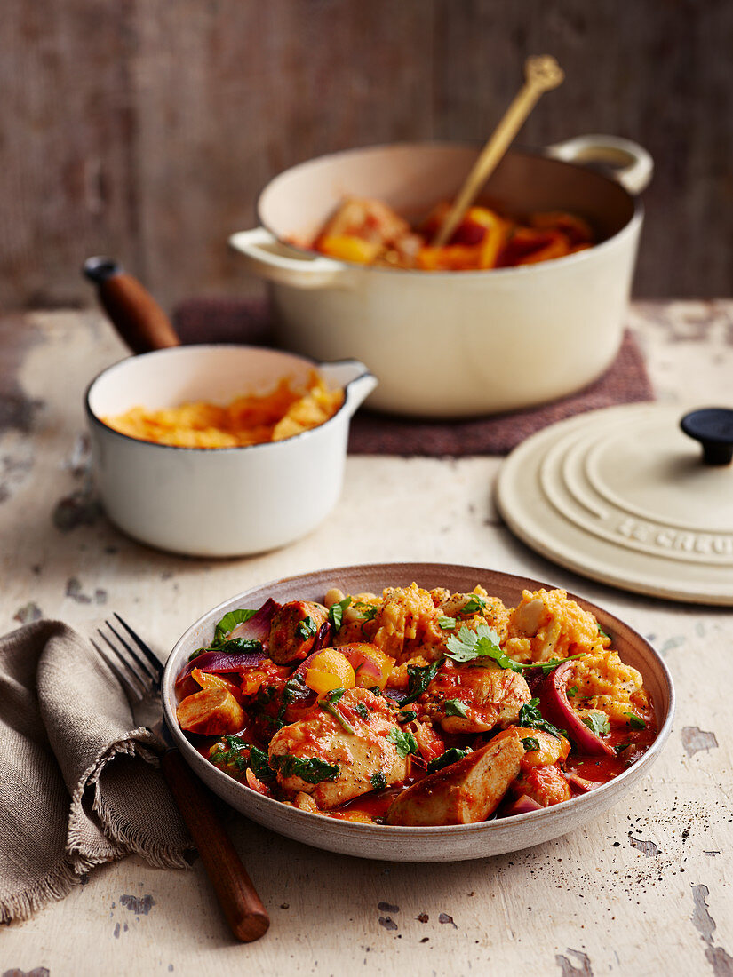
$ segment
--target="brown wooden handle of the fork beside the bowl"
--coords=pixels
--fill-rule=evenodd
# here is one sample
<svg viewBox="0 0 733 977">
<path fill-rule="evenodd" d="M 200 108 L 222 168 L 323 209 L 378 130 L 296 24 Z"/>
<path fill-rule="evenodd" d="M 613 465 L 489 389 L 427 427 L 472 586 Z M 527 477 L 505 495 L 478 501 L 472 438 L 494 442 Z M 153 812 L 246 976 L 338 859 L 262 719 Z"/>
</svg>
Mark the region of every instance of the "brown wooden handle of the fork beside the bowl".
<svg viewBox="0 0 733 977">
<path fill-rule="evenodd" d="M 164 753 L 160 766 L 191 831 L 232 932 L 244 943 L 259 940 L 270 926 L 270 916 L 241 864 L 235 846 L 217 818 L 211 801 L 177 749 Z"/>
</svg>

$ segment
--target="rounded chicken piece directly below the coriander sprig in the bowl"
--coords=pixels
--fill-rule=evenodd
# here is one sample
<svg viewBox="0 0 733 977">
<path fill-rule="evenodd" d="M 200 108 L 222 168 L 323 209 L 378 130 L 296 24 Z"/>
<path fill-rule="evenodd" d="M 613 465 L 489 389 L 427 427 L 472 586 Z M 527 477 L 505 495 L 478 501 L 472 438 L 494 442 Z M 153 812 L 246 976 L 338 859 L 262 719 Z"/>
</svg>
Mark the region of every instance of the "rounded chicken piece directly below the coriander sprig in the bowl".
<svg viewBox="0 0 733 977">
<path fill-rule="evenodd" d="M 532 699 L 522 675 L 486 665 L 447 660 L 428 686 L 425 711 L 446 733 L 485 733 L 514 723 Z"/>
</svg>

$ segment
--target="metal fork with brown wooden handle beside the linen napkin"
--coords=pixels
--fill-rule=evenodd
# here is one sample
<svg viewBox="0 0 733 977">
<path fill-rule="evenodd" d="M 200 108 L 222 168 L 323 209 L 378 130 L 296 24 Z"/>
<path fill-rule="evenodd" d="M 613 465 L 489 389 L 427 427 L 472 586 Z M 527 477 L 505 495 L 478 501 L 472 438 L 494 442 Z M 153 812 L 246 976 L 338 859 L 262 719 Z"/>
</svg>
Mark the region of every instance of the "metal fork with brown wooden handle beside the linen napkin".
<svg viewBox="0 0 733 977">
<path fill-rule="evenodd" d="M 166 743 L 167 748 L 160 756 L 160 768 L 191 831 L 232 932 L 244 943 L 258 940 L 267 932 L 270 917 L 211 801 L 173 745 L 160 700 L 162 665 L 130 625 L 118 614 L 114 616 L 126 633 L 120 633 L 118 626 L 106 620 L 111 636 L 101 628 L 98 628 L 98 634 L 107 650 L 94 639 L 91 639 L 92 644 L 130 696 L 136 722 L 148 726 Z"/>
</svg>

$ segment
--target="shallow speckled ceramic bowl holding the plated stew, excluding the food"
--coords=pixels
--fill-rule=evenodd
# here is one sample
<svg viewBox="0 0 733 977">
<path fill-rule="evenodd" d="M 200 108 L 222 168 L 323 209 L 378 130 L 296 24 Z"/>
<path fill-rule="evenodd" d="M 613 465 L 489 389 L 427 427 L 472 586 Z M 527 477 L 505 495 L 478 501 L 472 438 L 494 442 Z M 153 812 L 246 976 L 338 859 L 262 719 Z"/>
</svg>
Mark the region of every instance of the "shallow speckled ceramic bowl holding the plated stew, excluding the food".
<svg viewBox="0 0 733 977">
<path fill-rule="evenodd" d="M 590 818 L 598 817 L 617 803 L 648 774 L 668 740 L 674 714 L 674 690 L 667 666 L 651 645 L 627 624 L 577 597 L 573 599 L 594 614 L 603 630 L 611 635 L 622 659 L 643 675 L 657 710 L 659 735 L 641 759 L 615 780 L 554 807 L 477 825 L 437 828 L 398 828 L 338 821 L 286 807 L 280 801 L 238 784 L 209 763 L 186 739 L 176 721 L 176 676 L 192 653 L 211 641 L 215 624 L 228 611 L 261 607 L 269 597 L 281 603 L 296 598 L 323 601 L 325 591 L 332 586 L 347 593 L 379 593 L 389 584 L 407 586 L 413 580 L 422 587 L 445 586 L 455 592 L 471 590 L 481 583 L 490 594 L 498 595 L 510 607 L 521 600 L 524 588 L 537 590 L 547 586 L 525 577 L 476 567 L 403 563 L 305 573 L 237 594 L 199 617 L 177 642 L 165 666 L 162 682 L 165 719 L 173 740 L 194 773 L 237 811 L 266 828 L 326 851 L 389 862 L 453 862 L 528 848 L 582 827 Z"/>
</svg>

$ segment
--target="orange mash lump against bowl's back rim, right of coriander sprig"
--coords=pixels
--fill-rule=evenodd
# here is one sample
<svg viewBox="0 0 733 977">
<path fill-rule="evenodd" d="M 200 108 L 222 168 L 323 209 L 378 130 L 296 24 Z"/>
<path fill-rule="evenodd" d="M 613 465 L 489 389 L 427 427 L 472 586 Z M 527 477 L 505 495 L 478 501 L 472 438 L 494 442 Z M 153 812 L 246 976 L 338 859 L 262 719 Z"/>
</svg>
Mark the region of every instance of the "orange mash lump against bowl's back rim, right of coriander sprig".
<svg viewBox="0 0 733 977">
<path fill-rule="evenodd" d="M 517 661 L 547 661 L 601 651 L 610 639 L 564 590 L 525 590 L 509 616 L 504 651 Z"/>
</svg>

